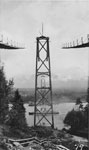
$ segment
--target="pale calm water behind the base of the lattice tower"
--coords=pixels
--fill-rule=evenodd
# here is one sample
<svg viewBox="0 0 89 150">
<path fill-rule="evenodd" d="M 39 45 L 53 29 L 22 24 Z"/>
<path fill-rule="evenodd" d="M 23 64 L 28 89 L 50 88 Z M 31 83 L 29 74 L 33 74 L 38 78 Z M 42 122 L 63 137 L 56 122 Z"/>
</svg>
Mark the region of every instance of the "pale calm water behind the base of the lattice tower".
<svg viewBox="0 0 89 150">
<path fill-rule="evenodd" d="M 72 108 L 74 107 L 74 103 L 60 103 L 57 105 L 54 105 L 54 111 L 58 111 L 59 114 L 54 115 L 54 127 L 58 128 L 58 129 L 62 129 L 65 125 L 63 123 L 63 120 L 65 118 L 65 115 L 67 114 L 68 111 L 72 110 Z M 39 106 L 41 107 L 41 106 Z M 34 107 L 30 107 L 28 106 L 28 104 L 25 104 L 25 109 L 26 109 L 26 119 L 27 119 L 27 123 L 29 126 L 33 126 L 34 124 L 34 115 L 29 115 L 29 112 L 33 112 L 34 111 Z M 40 117 L 40 116 L 39 116 Z M 48 115 L 48 120 L 51 119 L 51 116 Z M 40 118 L 38 118 L 40 119 Z M 44 120 L 45 124 L 46 121 Z"/>
</svg>

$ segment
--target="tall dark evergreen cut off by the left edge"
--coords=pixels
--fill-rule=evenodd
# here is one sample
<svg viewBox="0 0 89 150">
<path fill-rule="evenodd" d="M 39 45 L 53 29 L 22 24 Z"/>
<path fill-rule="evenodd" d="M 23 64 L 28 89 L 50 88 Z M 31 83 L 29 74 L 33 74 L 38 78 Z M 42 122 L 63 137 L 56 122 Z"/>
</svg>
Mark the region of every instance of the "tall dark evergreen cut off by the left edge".
<svg viewBox="0 0 89 150">
<path fill-rule="evenodd" d="M 9 110 L 8 95 L 11 92 L 13 80 L 6 80 L 4 67 L 0 68 L 0 123 L 4 123 Z"/>
</svg>

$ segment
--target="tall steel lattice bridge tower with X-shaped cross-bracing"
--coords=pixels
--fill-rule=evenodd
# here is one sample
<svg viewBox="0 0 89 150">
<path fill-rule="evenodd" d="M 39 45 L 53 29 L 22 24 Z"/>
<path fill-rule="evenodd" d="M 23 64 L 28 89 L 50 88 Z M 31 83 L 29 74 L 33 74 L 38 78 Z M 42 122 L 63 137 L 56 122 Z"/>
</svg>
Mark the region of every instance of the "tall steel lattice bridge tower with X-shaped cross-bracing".
<svg viewBox="0 0 89 150">
<path fill-rule="evenodd" d="M 44 125 L 43 121 L 54 128 L 49 37 L 42 35 L 36 38 L 34 126 Z"/>
</svg>

